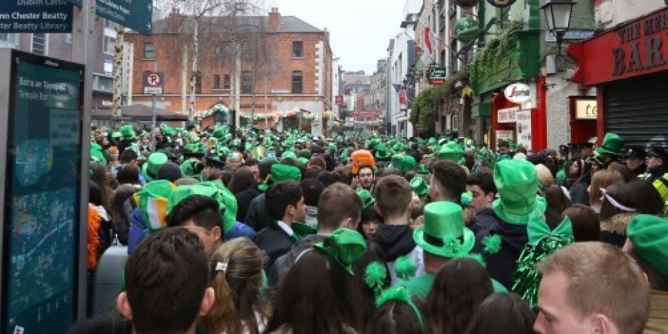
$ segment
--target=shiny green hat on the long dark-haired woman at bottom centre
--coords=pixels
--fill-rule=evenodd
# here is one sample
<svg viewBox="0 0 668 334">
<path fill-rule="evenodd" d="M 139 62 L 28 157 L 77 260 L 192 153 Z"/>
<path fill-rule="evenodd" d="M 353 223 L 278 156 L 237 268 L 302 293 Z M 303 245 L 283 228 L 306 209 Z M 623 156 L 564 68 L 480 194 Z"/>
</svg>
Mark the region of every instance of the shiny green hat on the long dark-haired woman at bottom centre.
<svg viewBox="0 0 668 334">
<path fill-rule="evenodd" d="M 353 262 L 366 253 L 366 241 L 359 232 L 340 228 L 333 231 L 323 242 L 314 244 L 313 248 L 330 255 L 353 275 Z"/>
</svg>

